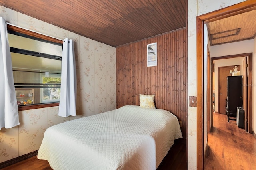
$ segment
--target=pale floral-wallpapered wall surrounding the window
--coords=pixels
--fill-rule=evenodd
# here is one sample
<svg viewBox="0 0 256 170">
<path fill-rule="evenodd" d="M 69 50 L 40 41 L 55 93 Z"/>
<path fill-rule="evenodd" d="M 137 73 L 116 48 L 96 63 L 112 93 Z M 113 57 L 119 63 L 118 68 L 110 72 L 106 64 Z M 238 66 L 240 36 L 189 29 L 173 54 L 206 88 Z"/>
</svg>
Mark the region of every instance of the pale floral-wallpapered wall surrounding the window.
<svg viewBox="0 0 256 170">
<path fill-rule="evenodd" d="M 0 6 L 0 16 L 16 26 L 74 40 L 77 116 L 59 117 L 58 106 L 19 111 L 20 125 L 0 130 L 0 162 L 38 150 L 46 128 L 116 109 L 116 48 Z"/>
</svg>

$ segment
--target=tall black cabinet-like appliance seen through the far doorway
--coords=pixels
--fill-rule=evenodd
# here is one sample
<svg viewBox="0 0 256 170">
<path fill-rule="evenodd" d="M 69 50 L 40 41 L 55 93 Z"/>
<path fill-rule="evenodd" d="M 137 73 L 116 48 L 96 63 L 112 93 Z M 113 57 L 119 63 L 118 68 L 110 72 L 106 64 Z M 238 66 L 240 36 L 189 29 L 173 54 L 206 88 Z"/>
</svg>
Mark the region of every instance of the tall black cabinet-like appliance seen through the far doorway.
<svg viewBox="0 0 256 170">
<path fill-rule="evenodd" d="M 242 75 L 227 77 L 227 99 L 226 99 L 226 114 L 231 117 L 236 117 L 237 107 L 243 107 L 243 86 Z M 233 119 L 236 120 L 236 119 Z"/>
</svg>

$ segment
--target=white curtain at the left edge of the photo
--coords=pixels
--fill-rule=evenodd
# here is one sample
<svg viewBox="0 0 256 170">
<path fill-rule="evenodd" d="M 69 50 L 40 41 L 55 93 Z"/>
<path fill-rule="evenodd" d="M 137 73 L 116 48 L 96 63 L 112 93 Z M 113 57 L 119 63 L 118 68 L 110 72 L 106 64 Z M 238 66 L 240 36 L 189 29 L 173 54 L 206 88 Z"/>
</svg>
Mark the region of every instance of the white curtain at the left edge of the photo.
<svg viewBox="0 0 256 170">
<path fill-rule="evenodd" d="M 7 25 L 2 17 L 0 17 L 0 40 L 0 127 L 12 128 L 20 125 L 20 122 Z"/>
</svg>

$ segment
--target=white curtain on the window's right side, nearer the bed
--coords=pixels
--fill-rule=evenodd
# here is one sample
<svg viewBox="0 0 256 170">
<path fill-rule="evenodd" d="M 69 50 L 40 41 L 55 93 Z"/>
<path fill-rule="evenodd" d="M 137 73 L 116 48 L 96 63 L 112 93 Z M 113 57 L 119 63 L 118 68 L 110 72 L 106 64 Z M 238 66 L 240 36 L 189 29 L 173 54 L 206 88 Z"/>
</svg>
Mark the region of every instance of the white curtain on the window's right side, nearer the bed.
<svg viewBox="0 0 256 170">
<path fill-rule="evenodd" d="M 61 59 L 59 116 L 76 116 L 76 62 L 74 43 L 66 38 Z"/>
</svg>

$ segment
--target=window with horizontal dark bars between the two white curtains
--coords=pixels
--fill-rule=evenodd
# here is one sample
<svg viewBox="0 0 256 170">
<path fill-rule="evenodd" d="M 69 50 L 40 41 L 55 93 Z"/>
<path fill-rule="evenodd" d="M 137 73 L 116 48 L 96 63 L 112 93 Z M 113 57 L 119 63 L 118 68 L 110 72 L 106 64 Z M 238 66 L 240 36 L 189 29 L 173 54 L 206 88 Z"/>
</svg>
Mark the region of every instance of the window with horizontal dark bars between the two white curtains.
<svg viewBox="0 0 256 170">
<path fill-rule="evenodd" d="M 18 106 L 58 103 L 62 40 L 10 25 L 8 39 Z"/>
</svg>

